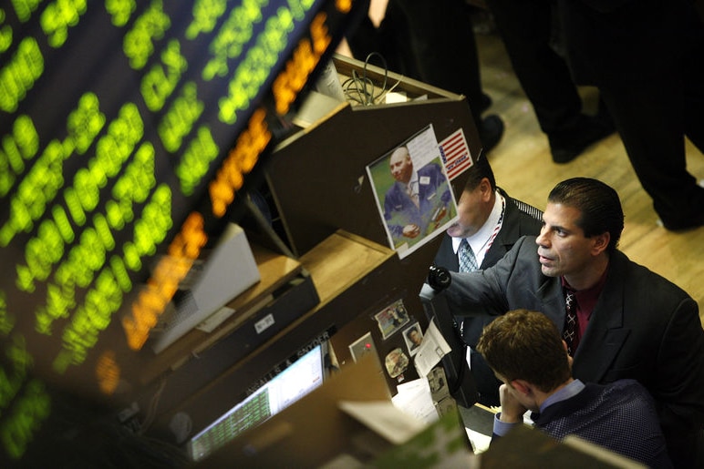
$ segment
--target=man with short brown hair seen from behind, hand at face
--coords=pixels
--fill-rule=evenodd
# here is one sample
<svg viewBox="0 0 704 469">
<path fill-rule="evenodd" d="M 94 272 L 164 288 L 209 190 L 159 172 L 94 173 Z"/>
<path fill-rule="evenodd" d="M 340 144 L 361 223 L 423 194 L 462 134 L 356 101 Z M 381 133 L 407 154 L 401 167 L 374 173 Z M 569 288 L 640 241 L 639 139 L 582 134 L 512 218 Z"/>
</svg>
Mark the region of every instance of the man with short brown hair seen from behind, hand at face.
<svg viewBox="0 0 704 469">
<path fill-rule="evenodd" d="M 544 314 L 507 312 L 484 329 L 477 350 L 503 382 L 495 436 L 523 423 L 530 410 L 535 426 L 557 440 L 576 435 L 648 467 L 671 466 L 647 390 L 635 380 L 573 379 L 565 343 Z"/>
</svg>

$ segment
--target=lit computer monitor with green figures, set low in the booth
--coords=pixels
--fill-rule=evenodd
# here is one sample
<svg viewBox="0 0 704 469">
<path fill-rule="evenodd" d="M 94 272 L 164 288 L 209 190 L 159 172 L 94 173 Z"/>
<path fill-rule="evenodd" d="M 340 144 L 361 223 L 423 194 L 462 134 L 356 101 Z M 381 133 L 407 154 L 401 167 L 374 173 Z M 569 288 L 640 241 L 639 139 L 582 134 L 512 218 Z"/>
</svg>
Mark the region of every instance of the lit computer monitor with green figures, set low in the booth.
<svg viewBox="0 0 704 469">
<path fill-rule="evenodd" d="M 187 444 L 192 461 L 201 461 L 320 386 L 326 378 L 325 353 L 325 344 L 316 345 L 193 436 Z"/>
</svg>

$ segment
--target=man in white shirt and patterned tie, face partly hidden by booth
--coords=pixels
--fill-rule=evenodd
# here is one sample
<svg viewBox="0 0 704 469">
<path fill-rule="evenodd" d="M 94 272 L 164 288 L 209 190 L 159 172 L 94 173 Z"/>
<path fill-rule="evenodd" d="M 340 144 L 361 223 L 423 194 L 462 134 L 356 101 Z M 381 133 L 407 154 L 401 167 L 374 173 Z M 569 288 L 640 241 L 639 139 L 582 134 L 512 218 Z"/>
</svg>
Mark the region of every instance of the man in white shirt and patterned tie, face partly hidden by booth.
<svg viewBox="0 0 704 469">
<path fill-rule="evenodd" d="M 469 243 L 477 267 L 486 269 L 502 259 L 516 240 L 540 233 L 543 223 L 541 210 L 512 199 L 502 189 L 497 189 L 487 158 L 480 157 L 468 169 L 468 174 L 457 204 L 459 219 L 447 230 L 434 260 L 436 266 L 454 272 L 460 271 L 461 240 Z M 469 346 L 468 363 L 477 383 L 479 402 L 484 405 L 499 405 L 500 382 L 473 348 L 481 329 L 493 318 L 482 314 L 458 321 L 462 340 Z"/>
</svg>

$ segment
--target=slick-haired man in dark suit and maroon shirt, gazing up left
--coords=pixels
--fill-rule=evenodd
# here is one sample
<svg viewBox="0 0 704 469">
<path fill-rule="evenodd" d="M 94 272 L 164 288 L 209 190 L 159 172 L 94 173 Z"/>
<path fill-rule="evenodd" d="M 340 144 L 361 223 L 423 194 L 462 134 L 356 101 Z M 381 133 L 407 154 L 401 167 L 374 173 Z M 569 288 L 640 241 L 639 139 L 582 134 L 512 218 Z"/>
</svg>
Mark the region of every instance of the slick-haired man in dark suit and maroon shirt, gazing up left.
<svg viewBox="0 0 704 469">
<path fill-rule="evenodd" d="M 492 268 L 450 273 L 446 294 L 453 311 L 543 312 L 559 330 L 573 333 L 575 378 L 643 384 L 656 400 L 675 466 L 701 467 L 704 331 L 697 302 L 616 250 L 624 215 L 606 184 L 591 178 L 558 183 L 543 219 L 540 236 L 518 240 Z M 565 314 L 570 293 L 573 331 Z"/>
</svg>

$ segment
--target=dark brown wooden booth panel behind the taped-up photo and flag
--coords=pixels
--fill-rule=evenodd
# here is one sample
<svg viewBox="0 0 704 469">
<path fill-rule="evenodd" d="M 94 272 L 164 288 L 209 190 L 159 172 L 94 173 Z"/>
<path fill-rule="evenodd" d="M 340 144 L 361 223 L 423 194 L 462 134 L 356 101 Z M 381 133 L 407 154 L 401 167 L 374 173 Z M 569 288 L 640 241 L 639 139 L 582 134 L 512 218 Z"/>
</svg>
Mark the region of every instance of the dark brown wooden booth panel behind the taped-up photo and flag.
<svg viewBox="0 0 704 469">
<path fill-rule="evenodd" d="M 346 72 L 363 66 L 358 61 L 338 60 L 336 64 L 344 64 Z M 357 69 L 357 73 L 361 72 Z M 382 76 L 373 66 L 368 74 L 377 81 Z M 400 78 L 391 76 L 390 83 Z M 387 245 L 366 168 L 428 125 L 432 124 L 438 141 L 462 129 L 472 158 L 477 157 L 481 145 L 464 97 L 405 78 L 396 89 L 412 89 L 429 98 L 343 106 L 276 148 L 265 170 L 266 179 L 295 255 L 303 255 L 336 229 Z M 455 195 L 465 180 L 461 173 L 450 181 Z"/>
</svg>

